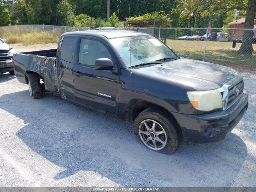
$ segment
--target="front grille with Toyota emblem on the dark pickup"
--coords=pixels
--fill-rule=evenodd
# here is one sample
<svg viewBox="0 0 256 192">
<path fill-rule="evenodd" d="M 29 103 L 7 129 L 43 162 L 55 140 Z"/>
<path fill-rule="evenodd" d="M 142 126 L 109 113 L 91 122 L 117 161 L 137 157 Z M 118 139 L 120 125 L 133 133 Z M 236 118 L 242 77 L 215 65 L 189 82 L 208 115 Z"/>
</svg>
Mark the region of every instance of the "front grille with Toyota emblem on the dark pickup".
<svg viewBox="0 0 256 192">
<path fill-rule="evenodd" d="M 228 88 L 228 100 L 227 100 L 227 109 L 230 108 L 234 103 L 236 103 L 239 98 L 242 96 L 244 91 L 244 81 L 240 81 L 234 86 Z"/>
</svg>

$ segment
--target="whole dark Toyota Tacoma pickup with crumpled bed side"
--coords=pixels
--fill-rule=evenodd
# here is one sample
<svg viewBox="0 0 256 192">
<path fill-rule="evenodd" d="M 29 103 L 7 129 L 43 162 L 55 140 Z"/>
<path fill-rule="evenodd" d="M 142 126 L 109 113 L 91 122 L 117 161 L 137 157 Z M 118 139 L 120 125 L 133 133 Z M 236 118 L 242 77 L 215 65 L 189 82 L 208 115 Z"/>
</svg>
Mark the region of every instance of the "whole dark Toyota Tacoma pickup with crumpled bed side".
<svg viewBox="0 0 256 192">
<path fill-rule="evenodd" d="M 180 58 L 144 33 L 68 32 L 57 50 L 14 54 L 13 60 L 32 98 L 50 92 L 134 121 L 138 141 L 156 152 L 172 154 L 182 139 L 223 140 L 248 107 L 236 70 Z"/>
</svg>

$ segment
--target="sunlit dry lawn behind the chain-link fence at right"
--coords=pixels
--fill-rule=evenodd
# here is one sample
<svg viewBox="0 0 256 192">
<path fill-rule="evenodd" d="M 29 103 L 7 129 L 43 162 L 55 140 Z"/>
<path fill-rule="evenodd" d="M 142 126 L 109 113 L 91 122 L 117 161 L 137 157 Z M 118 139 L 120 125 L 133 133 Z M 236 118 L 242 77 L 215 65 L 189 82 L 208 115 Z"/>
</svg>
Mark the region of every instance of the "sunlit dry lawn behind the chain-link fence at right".
<svg viewBox="0 0 256 192">
<path fill-rule="evenodd" d="M 174 49 L 174 52 L 183 57 L 203 60 L 204 41 L 166 40 L 166 44 Z M 256 44 L 252 44 L 252 55 L 238 52 L 241 43 L 232 48 L 232 42 L 208 41 L 206 44 L 205 61 L 218 64 L 236 64 L 240 66 L 256 67 Z"/>
</svg>

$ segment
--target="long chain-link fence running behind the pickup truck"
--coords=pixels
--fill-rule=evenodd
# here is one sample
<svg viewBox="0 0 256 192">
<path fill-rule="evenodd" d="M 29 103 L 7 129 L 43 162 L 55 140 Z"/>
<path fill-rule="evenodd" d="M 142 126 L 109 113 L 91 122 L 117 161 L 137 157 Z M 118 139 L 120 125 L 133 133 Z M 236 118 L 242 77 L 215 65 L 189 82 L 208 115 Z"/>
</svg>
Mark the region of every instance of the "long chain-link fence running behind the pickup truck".
<svg viewBox="0 0 256 192">
<path fill-rule="evenodd" d="M 36 30 L 64 32 L 90 30 L 68 26 L 18 25 L 2 27 L 5 30 Z M 100 28 L 104 30 L 107 28 Z M 239 28 L 111 28 L 132 30 L 150 34 L 167 46 L 172 47 L 178 56 L 219 64 L 236 64 L 256 67 L 256 29 Z M 245 38 L 244 38 L 245 36 Z M 248 46 L 240 50 L 243 41 Z"/>
</svg>

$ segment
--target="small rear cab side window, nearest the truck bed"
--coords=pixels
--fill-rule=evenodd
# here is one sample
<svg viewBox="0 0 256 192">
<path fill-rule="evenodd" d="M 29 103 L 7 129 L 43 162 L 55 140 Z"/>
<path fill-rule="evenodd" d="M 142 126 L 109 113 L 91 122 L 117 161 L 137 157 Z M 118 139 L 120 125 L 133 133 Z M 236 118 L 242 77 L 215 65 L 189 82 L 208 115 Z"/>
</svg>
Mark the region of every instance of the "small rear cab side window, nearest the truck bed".
<svg viewBox="0 0 256 192">
<path fill-rule="evenodd" d="M 75 37 L 64 37 L 61 44 L 60 58 L 66 62 L 73 61 Z"/>
</svg>

